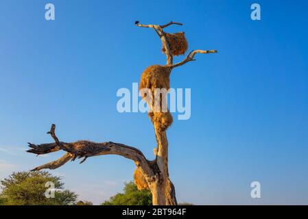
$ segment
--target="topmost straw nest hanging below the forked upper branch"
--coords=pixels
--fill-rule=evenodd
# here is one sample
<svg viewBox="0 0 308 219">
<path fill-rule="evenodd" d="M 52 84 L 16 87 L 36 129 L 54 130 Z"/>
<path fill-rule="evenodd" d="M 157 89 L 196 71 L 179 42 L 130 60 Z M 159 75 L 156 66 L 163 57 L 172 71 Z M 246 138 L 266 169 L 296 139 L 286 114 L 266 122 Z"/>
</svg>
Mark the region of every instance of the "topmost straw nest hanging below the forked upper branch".
<svg viewBox="0 0 308 219">
<path fill-rule="evenodd" d="M 167 40 L 169 42 L 169 47 L 172 55 L 184 55 L 188 49 L 187 40 L 185 38 L 184 32 L 178 32 L 175 34 L 166 33 Z M 165 47 L 161 49 L 165 53 Z"/>
</svg>

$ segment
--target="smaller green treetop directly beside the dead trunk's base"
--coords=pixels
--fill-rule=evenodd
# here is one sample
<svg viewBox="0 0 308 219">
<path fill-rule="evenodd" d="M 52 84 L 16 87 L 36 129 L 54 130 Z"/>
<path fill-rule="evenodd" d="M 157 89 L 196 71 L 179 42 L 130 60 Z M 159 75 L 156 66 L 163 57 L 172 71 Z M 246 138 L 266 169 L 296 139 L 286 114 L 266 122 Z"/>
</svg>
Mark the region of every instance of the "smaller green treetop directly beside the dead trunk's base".
<svg viewBox="0 0 308 219">
<path fill-rule="evenodd" d="M 130 181 L 125 183 L 123 193 L 110 197 L 102 205 L 152 205 L 152 194 L 150 190 L 137 189 L 137 185 Z"/>
</svg>

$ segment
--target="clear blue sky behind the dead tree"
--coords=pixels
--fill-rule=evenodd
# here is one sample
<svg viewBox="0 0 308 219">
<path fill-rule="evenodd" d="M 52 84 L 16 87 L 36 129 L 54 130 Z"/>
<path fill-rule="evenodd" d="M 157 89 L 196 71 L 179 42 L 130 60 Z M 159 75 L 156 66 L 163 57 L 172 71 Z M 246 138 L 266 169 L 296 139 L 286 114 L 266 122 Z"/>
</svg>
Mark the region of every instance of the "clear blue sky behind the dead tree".
<svg viewBox="0 0 308 219">
<path fill-rule="evenodd" d="M 54 3 L 56 21 L 45 21 Z M 261 21 L 250 5 L 261 5 Z M 171 87 L 191 88 L 191 118 L 168 130 L 178 201 L 308 204 L 307 1 L 0 1 L 0 178 L 57 159 L 27 142 L 114 141 L 153 158 L 145 114 L 119 114 L 116 92 L 164 64 L 141 23 L 178 21 L 189 49 L 217 49 L 176 68 Z M 183 57 L 176 57 L 176 61 Z M 176 114 L 174 114 L 174 117 Z M 81 199 L 100 203 L 132 179 L 134 164 L 104 156 L 53 170 Z M 250 198 L 250 183 L 261 197 Z"/>
</svg>

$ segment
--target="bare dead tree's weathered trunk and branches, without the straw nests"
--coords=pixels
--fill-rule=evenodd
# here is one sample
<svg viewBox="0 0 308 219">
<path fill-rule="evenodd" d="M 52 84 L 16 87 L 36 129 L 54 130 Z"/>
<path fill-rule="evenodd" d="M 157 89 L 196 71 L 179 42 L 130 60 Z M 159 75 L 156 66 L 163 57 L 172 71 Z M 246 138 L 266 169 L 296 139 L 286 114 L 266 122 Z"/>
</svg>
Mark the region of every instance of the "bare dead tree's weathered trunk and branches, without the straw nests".
<svg viewBox="0 0 308 219">
<path fill-rule="evenodd" d="M 171 53 L 171 45 L 168 42 L 167 33 L 163 31 L 165 27 L 169 25 L 182 25 L 182 23 L 170 22 L 166 25 L 142 25 L 137 23 L 137 27 L 148 27 L 154 29 L 156 34 L 163 42 L 163 48 L 167 57 L 167 64 L 170 70 L 178 66 L 182 66 L 187 62 L 195 60 L 196 53 L 216 53 L 217 51 L 204 51 L 204 50 L 193 50 L 182 62 L 176 64 L 173 63 L 173 55 Z M 150 161 L 145 158 L 143 153 L 139 149 L 128 146 L 126 144 L 120 144 L 115 142 L 89 142 L 89 141 L 78 141 L 78 142 L 60 142 L 55 133 L 56 125 L 51 126 L 51 130 L 47 132 L 54 139 L 54 143 L 49 144 L 29 144 L 27 152 L 34 153 L 36 155 L 43 155 L 52 153 L 55 151 L 66 151 L 66 154 L 54 162 L 49 162 L 42 166 L 34 168 L 32 171 L 51 169 L 54 170 L 69 162 L 74 161 L 76 158 L 82 158 L 83 163 L 88 157 L 94 157 L 99 155 L 121 155 L 131 159 L 137 168 L 141 171 L 147 188 L 152 192 L 153 205 L 177 205 L 176 192 L 173 183 L 169 179 L 168 172 L 168 141 L 166 130 L 156 129 L 154 126 L 157 147 L 154 149 L 154 160 Z"/>
</svg>

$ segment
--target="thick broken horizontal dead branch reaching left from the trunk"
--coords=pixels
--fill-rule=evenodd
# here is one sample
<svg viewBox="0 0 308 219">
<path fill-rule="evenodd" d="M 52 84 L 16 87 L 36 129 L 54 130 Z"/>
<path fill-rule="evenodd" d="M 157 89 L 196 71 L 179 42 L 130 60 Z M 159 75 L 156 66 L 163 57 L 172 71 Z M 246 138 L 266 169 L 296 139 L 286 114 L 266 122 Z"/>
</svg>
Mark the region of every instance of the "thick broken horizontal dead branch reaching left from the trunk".
<svg viewBox="0 0 308 219">
<path fill-rule="evenodd" d="M 38 166 L 33 170 L 42 170 L 42 169 L 51 169 L 54 170 L 63 164 L 67 163 L 69 160 L 74 161 L 76 158 L 83 158 L 82 164 L 88 157 L 94 157 L 99 155 L 120 155 L 122 157 L 126 157 L 128 159 L 132 159 L 137 166 L 140 166 L 143 169 L 143 172 L 148 176 L 152 176 L 153 172 L 149 166 L 149 162 L 143 155 L 139 149 L 136 149 L 132 146 L 128 146 L 125 144 L 115 143 L 115 142 L 89 142 L 89 141 L 78 141 L 78 142 L 59 142 L 56 134 L 54 133 L 55 125 L 52 125 L 51 131 L 48 133 L 52 133 L 51 136 L 54 138 L 56 143 L 49 144 L 29 144 L 29 149 L 27 152 L 34 153 L 37 155 L 43 155 L 46 153 L 51 153 L 55 151 L 66 151 L 67 153 L 57 159 L 54 162 L 49 162 L 42 166 Z M 58 146 L 60 144 L 61 146 Z"/>
</svg>

